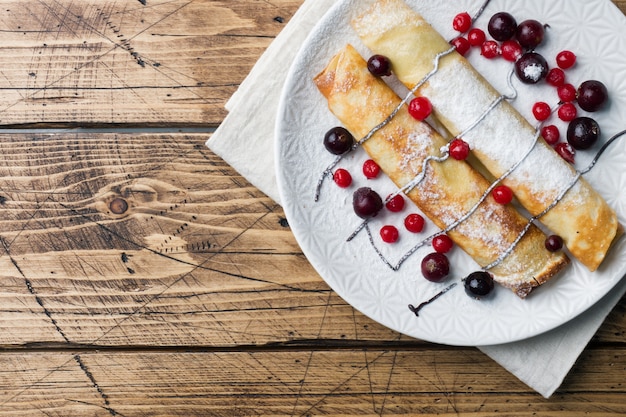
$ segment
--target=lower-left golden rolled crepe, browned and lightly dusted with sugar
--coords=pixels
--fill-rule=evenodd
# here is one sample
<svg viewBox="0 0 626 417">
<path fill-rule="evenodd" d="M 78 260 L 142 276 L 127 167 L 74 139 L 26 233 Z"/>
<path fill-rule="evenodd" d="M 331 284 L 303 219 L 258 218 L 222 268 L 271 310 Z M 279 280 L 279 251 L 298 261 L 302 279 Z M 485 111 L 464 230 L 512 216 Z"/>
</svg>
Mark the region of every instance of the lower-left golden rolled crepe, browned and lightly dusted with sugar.
<svg viewBox="0 0 626 417">
<path fill-rule="evenodd" d="M 332 58 L 315 83 L 331 112 L 358 138 L 368 136 L 401 103 L 384 81 L 370 74 L 366 61 L 350 45 Z M 411 117 L 403 105 L 389 123 L 362 142 L 362 147 L 402 188 L 422 172 L 428 156 L 440 156 L 446 143 L 428 124 Z M 490 195 L 472 212 L 489 186 L 469 164 L 448 158 L 429 162 L 424 180 L 407 196 L 441 229 L 472 213 L 448 235 L 485 267 L 506 253 L 528 225 L 513 206 L 498 204 Z M 554 276 L 568 258 L 547 251 L 544 242 L 543 232 L 532 226 L 512 252 L 490 270 L 494 280 L 523 298 Z"/>
</svg>

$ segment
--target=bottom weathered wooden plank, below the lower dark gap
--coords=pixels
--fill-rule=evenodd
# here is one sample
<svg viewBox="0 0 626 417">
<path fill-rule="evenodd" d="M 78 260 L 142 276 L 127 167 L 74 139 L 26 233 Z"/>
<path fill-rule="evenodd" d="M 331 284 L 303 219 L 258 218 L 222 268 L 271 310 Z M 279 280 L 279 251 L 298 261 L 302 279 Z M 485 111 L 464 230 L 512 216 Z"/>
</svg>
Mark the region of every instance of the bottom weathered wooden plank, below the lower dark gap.
<svg viewBox="0 0 626 417">
<path fill-rule="evenodd" d="M 550 400 L 474 349 L 0 355 L 0 415 L 476 417 L 626 413 L 623 350 L 594 349 Z"/>
</svg>

